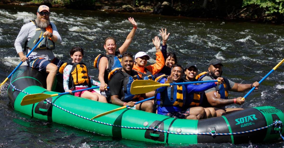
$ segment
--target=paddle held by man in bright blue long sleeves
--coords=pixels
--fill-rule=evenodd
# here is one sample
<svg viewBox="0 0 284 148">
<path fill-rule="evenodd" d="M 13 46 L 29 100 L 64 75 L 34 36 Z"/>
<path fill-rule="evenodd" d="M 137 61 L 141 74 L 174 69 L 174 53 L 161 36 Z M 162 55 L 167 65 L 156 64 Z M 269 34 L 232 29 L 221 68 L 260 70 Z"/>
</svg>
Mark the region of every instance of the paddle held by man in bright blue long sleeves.
<svg viewBox="0 0 284 148">
<path fill-rule="evenodd" d="M 185 85 L 185 84 L 197 84 L 197 83 L 210 83 L 210 82 L 220 82 L 220 80 L 211 81 L 194 81 L 194 82 L 181 82 L 181 83 L 159 83 L 153 80 L 135 80 L 131 84 L 130 93 L 133 95 L 143 94 L 153 91 L 157 88 L 170 85 Z"/>
</svg>

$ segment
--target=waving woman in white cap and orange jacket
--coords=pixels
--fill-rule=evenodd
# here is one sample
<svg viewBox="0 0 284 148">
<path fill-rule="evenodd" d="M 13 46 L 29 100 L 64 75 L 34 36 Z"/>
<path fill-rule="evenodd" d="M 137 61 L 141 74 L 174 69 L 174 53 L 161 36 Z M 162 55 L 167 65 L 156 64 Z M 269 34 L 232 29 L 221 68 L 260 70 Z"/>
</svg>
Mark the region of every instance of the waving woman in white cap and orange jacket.
<svg viewBox="0 0 284 148">
<path fill-rule="evenodd" d="M 154 80 L 153 74 L 157 74 L 165 65 L 165 60 L 163 54 L 160 50 L 160 42 L 161 40 L 156 36 L 153 40 L 153 44 L 156 47 L 156 63 L 153 65 L 147 65 L 147 60 L 150 59 L 150 56 L 145 52 L 138 52 L 135 55 L 135 64 L 133 66 L 133 70 L 138 72 L 138 75 L 141 79 L 152 79 Z M 152 78 L 150 78 L 152 77 Z"/>
</svg>

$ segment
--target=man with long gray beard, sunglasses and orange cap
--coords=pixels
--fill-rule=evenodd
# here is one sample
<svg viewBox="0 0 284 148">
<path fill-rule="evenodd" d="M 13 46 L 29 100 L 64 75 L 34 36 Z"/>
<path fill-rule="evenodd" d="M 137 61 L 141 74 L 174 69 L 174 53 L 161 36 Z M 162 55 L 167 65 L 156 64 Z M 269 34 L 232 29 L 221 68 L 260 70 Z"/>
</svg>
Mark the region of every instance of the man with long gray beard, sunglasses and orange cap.
<svg viewBox="0 0 284 148">
<path fill-rule="evenodd" d="M 55 43 L 60 44 L 61 37 L 55 24 L 50 22 L 49 14 L 49 7 L 39 6 L 36 20 L 31 20 L 22 26 L 14 46 L 22 62 L 27 61 L 30 67 L 48 73 L 47 90 L 51 91 L 57 69 L 61 67 L 63 62 L 55 58 L 53 53 Z M 45 38 L 27 58 L 23 53 L 22 45 L 24 44 L 24 51 L 28 49 L 30 52 L 42 36 Z"/>
</svg>

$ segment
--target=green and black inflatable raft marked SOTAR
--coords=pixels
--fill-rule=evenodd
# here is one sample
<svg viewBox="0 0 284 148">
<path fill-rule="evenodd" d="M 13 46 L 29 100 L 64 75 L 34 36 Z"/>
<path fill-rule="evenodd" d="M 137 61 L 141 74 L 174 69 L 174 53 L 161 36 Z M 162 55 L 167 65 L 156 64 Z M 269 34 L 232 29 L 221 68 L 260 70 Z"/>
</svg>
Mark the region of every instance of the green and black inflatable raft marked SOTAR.
<svg viewBox="0 0 284 148">
<path fill-rule="evenodd" d="M 62 92 L 62 78 L 54 90 Z M 13 108 L 32 117 L 70 125 L 105 136 L 154 143 L 261 143 L 281 139 L 284 114 L 278 108 L 249 108 L 222 117 L 202 120 L 175 119 L 155 113 L 123 109 L 91 121 L 90 118 L 120 106 L 72 95 L 55 96 L 21 106 L 26 93 L 56 94 L 47 91 L 43 74 L 28 66 L 12 76 L 8 96 Z M 276 121 L 276 122 L 275 122 Z M 280 122 L 277 122 L 280 121 Z"/>
</svg>

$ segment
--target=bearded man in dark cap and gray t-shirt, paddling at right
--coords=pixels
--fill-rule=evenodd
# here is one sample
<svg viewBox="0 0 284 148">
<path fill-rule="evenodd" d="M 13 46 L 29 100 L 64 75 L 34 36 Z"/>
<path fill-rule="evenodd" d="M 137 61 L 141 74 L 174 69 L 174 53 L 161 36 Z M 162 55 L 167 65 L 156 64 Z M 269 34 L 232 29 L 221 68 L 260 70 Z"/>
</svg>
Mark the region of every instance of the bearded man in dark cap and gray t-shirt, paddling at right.
<svg viewBox="0 0 284 148">
<path fill-rule="evenodd" d="M 206 76 L 204 76 L 201 79 L 201 81 L 214 80 L 218 77 L 221 77 L 222 67 L 223 65 L 220 60 L 212 59 L 209 62 L 209 67 L 208 67 L 209 73 L 206 74 Z M 210 106 L 216 108 L 215 110 L 217 116 L 221 116 L 226 113 L 231 113 L 233 111 L 243 110 L 242 108 L 225 108 L 225 106 L 230 104 L 241 105 L 245 102 L 245 100 L 242 100 L 242 97 L 228 99 L 228 91 L 244 92 L 251 89 L 252 87 L 256 87 L 256 89 L 258 89 L 258 85 L 259 85 L 258 82 L 254 82 L 252 84 L 240 84 L 230 81 L 227 78 L 224 78 L 224 84 L 206 90 L 205 95 L 207 97 Z M 220 93 L 221 98 L 216 98 L 216 96 L 214 95 L 216 91 Z M 219 108 L 222 108 L 222 110 L 220 110 Z"/>
</svg>

